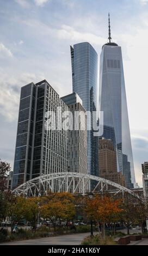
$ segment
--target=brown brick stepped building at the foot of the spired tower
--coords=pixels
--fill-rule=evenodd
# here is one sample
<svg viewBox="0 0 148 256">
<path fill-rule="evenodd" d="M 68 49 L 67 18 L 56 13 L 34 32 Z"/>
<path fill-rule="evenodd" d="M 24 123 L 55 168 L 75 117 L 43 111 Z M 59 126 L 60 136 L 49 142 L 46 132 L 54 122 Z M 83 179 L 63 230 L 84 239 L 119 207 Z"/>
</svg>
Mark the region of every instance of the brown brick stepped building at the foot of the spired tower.
<svg viewBox="0 0 148 256">
<path fill-rule="evenodd" d="M 99 139 L 98 148 L 99 176 L 125 186 L 125 177 L 121 172 L 117 172 L 116 151 L 112 139 Z"/>
</svg>

